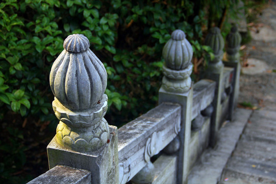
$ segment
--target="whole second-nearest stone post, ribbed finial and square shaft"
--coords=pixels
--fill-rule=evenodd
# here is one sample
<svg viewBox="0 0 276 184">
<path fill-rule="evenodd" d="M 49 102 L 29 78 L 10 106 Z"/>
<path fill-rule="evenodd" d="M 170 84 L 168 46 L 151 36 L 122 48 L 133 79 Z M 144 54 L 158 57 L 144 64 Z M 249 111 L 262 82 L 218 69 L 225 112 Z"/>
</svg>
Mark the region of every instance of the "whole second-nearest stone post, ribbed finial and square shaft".
<svg viewBox="0 0 276 184">
<path fill-rule="evenodd" d="M 181 30 L 173 31 L 163 49 L 164 77 L 159 89 L 159 104 L 173 102 L 181 105 L 181 128 L 178 136 L 165 148 L 168 154 L 178 155 L 177 183 L 186 183 L 188 176 L 188 148 L 191 136 L 193 88 L 190 75 L 193 49 Z"/>
</svg>

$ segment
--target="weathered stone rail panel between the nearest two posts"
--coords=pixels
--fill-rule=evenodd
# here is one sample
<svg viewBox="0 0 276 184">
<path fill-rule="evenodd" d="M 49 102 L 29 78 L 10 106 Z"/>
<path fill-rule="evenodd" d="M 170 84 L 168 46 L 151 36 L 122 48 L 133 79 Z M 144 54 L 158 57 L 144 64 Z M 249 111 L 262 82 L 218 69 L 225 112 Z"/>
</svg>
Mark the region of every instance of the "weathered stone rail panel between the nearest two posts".
<svg viewBox="0 0 276 184">
<path fill-rule="evenodd" d="M 118 130 L 120 181 L 129 181 L 180 129 L 178 104 L 162 103 Z M 135 161 L 134 161 L 135 160 Z"/>
</svg>

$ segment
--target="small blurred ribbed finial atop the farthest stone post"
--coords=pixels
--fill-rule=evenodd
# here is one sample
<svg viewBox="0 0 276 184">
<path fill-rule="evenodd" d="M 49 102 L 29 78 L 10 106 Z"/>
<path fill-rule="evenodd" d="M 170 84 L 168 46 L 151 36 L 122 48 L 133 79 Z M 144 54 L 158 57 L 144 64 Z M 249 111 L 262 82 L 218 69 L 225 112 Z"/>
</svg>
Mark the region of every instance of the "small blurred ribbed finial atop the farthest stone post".
<svg viewBox="0 0 276 184">
<path fill-rule="evenodd" d="M 238 32 L 238 26 L 233 25 L 230 33 L 226 36 L 227 42 L 227 60 L 231 62 L 238 62 L 240 57 L 239 50 L 241 44 L 241 34 Z"/>
</svg>

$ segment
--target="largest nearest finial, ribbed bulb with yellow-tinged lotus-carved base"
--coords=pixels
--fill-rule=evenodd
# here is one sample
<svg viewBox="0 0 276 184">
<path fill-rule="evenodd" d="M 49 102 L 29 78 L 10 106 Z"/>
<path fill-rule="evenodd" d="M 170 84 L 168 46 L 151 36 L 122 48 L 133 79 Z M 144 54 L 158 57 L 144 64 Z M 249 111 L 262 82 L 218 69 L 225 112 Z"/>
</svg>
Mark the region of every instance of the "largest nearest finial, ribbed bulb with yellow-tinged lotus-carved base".
<svg viewBox="0 0 276 184">
<path fill-rule="evenodd" d="M 107 73 L 89 45 L 84 35 L 68 36 L 50 73 L 53 109 L 60 120 L 57 142 L 84 152 L 98 150 L 109 137 L 108 123 L 103 118 L 107 110 Z"/>
</svg>

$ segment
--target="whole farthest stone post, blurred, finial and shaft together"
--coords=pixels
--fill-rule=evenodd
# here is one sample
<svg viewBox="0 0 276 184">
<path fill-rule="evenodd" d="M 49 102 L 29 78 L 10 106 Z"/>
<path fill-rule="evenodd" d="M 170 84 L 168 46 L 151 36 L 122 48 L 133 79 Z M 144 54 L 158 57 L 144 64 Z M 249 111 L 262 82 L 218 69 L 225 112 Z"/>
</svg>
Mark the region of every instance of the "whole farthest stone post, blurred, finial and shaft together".
<svg viewBox="0 0 276 184">
<path fill-rule="evenodd" d="M 237 25 L 233 25 L 230 33 L 226 36 L 226 59 L 224 62 L 225 66 L 230 66 L 234 68 L 234 80 L 232 83 L 233 93 L 230 96 L 229 104 L 229 119 L 233 119 L 233 111 L 238 103 L 239 97 L 239 79 L 240 79 L 240 45 L 241 44 L 241 34 L 238 31 Z"/>
</svg>

